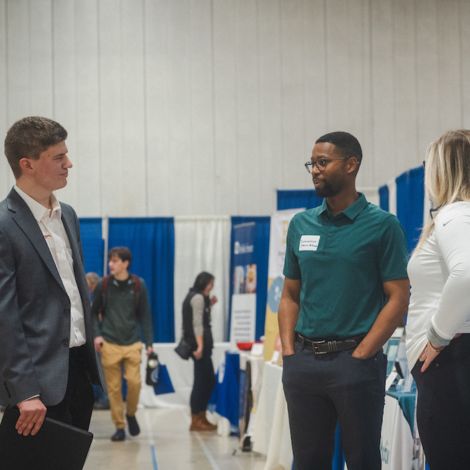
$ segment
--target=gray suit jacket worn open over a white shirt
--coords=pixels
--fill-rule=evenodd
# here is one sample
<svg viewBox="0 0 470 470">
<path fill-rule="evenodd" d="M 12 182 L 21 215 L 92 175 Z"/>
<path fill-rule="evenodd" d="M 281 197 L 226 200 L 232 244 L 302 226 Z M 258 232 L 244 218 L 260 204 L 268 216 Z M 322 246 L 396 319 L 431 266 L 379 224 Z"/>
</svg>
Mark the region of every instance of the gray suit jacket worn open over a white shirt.
<svg viewBox="0 0 470 470">
<path fill-rule="evenodd" d="M 72 207 L 61 208 L 85 313 L 89 376 L 99 383 L 79 223 Z M 61 402 L 69 336 L 70 299 L 36 219 L 12 189 L 0 202 L 0 404 L 34 395 L 47 406 Z"/>
</svg>

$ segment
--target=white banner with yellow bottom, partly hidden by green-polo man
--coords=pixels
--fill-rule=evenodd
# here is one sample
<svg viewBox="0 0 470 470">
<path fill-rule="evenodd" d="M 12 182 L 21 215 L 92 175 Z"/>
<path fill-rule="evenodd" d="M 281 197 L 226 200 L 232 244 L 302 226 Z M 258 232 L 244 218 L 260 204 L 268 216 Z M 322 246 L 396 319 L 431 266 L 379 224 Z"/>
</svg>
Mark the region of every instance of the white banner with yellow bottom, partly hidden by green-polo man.
<svg viewBox="0 0 470 470">
<path fill-rule="evenodd" d="M 278 211 L 271 216 L 269 237 L 268 301 L 264 334 L 264 359 L 269 361 L 274 351 L 280 351 L 277 311 L 284 285 L 284 257 L 286 255 L 287 229 L 292 217 L 304 209 Z"/>
</svg>

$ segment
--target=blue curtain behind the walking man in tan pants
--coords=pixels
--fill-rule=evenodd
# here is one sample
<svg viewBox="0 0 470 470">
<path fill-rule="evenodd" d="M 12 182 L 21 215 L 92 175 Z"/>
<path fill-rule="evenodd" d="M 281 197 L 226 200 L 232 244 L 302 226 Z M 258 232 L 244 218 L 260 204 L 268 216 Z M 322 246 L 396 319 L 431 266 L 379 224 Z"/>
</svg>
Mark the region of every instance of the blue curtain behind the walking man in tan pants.
<svg viewBox="0 0 470 470">
<path fill-rule="evenodd" d="M 173 342 L 175 230 L 172 217 L 111 218 L 109 248 L 127 246 L 131 272 L 144 278 L 150 297 L 155 342 Z"/>
</svg>

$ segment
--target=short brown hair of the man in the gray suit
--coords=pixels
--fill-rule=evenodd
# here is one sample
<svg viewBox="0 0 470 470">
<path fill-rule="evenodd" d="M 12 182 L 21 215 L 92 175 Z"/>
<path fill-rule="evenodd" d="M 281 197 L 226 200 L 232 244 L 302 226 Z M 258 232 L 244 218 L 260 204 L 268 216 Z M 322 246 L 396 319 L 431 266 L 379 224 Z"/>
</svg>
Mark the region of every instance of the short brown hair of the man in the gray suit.
<svg viewBox="0 0 470 470">
<path fill-rule="evenodd" d="M 66 138 L 67 131 L 52 119 L 29 116 L 16 121 L 5 137 L 5 156 L 15 178 L 21 176 L 20 160 L 23 157 L 37 160 L 41 152 Z"/>
</svg>

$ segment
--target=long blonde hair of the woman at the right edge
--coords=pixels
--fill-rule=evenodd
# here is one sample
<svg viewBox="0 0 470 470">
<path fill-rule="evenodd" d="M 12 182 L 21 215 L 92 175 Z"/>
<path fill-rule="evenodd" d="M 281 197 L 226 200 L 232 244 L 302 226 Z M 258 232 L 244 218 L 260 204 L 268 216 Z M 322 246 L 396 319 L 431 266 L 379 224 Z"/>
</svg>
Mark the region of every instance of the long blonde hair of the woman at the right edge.
<svg viewBox="0 0 470 470">
<path fill-rule="evenodd" d="M 448 131 L 429 146 L 424 184 L 436 212 L 447 204 L 470 200 L 470 130 Z M 418 248 L 433 228 L 434 220 L 429 218 Z"/>
</svg>

